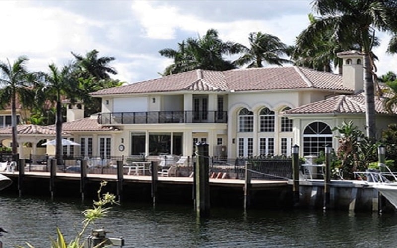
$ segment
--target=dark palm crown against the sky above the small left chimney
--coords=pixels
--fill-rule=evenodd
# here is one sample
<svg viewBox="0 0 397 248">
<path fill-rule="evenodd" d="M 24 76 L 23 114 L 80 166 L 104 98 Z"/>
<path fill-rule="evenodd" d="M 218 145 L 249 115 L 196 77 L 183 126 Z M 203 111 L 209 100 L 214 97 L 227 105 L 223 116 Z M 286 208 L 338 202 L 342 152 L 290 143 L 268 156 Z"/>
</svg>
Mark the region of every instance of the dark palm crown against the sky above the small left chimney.
<svg viewBox="0 0 397 248">
<path fill-rule="evenodd" d="M 85 57 L 71 52 L 76 59 L 75 65 L 84 78 L 93 76 L 96 80 L 110 79 L 110 74 L 116 75 L 117 71 L 109 66 L 109 63 L 114 61 L 114 57 L 100 57 L 98 58 L 98 51 L 92 50 L 86 53 Z"/>
</svg>

